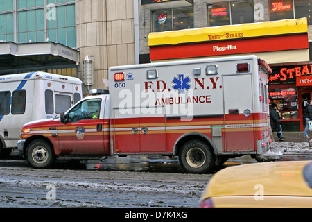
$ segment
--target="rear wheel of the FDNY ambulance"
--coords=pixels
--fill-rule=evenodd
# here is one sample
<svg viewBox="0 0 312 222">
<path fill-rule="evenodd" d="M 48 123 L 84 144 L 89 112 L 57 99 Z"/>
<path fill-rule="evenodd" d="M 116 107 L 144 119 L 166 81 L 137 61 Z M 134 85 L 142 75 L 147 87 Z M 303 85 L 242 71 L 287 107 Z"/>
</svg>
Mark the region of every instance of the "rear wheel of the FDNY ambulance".
<svg viewBox="0 0 312 222">
<path fill-rule="evenodd" d="M 179 161 L 187 173 L 207 173 L 214 169 L 214 158 L 209 147 L 205 142 L 196 139 L 182 146 Z"/>
</svg>

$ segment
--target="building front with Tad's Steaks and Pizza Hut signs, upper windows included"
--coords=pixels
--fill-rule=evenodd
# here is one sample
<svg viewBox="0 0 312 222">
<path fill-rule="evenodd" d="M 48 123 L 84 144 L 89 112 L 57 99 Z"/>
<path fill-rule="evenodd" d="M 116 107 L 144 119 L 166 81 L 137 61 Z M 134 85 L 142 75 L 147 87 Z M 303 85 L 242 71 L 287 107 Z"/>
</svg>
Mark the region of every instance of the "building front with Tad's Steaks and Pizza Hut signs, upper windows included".
<svg viewBox="0 0 312 222">
<path fill-rule="evenodd" d="M 152 62 L 257 54 L 273 69 L 269 97 L 271 103 L 281 104 L 283 129 L 304 130 L 305 105 L 312 99 L 311 5 L 312 1 L 293 0 L 166 1 L 162 5 L 142 0 L 140 53 Z M 283 19 L 290 20 L 279 26 Z M 291 22 L 293 31 L 286 28 Z M 153 32 L 149 37 L 148 30 Z"/>
</svg>

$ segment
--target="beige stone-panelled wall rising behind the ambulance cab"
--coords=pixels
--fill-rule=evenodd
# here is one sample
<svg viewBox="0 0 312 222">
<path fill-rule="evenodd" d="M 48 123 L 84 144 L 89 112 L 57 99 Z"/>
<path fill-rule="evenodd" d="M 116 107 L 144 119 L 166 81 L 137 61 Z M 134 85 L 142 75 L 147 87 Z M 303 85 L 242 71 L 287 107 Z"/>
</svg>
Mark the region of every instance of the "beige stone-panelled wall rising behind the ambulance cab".
<svg viewBox="0 0 312 222">
<path fill-rule="evenodd" d="M 76 0 L 77 48 L 82 61 L 94 57 L 94 89 L 105 89 L 108 68 L 135 63 L 133 1 Z"/>
</svg>

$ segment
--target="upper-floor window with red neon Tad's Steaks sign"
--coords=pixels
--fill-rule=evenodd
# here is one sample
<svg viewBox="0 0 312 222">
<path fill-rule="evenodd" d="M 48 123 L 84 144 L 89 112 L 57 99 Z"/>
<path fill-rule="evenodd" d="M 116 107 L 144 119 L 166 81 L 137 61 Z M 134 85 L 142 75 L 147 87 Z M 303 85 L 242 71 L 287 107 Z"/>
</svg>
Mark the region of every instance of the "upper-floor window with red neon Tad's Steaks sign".
<svg viewBox="0 0 312 222">
<path fill-rule="evenodd" d="M 281 19 L 293 19 L 293 0 L 278 1 L 270 0 L 269 12 L 270 21 Z"/>
</svg>

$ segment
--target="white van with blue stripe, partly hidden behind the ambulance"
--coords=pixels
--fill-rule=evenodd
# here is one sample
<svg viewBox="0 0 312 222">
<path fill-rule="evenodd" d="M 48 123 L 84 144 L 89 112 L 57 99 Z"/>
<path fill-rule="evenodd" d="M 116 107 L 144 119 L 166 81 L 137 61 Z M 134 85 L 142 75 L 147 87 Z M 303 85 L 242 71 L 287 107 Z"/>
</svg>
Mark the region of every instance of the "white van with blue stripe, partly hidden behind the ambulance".
<svg viewBox="0 0 312 222">
<path fill-rule="evenodd" d="M 0 157 L 17 147 L 28 121 L 59 117 L 82 98 L 82 82 L 41 71 L 0 76 Z"/>
</svg>

